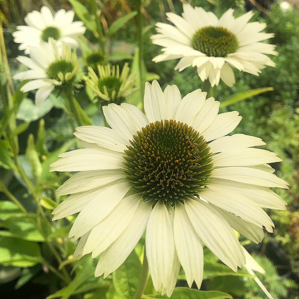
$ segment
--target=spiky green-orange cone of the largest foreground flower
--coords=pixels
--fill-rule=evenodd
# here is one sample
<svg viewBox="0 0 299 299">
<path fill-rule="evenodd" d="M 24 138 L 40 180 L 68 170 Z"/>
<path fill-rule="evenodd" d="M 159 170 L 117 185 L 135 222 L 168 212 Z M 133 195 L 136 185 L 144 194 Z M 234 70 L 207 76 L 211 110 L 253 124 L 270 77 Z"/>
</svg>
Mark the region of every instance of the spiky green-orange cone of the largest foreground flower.
<svg viewBox="0 0 299 299">
<path fill-rule="evenodd" d="M 146 201 L 176 200 L 196 196 L 207 185 L 213 169 L 210 148 L 191 126 L 175 120 L 150 123 L 127 146 L 127 179 Z"/>
</svg>

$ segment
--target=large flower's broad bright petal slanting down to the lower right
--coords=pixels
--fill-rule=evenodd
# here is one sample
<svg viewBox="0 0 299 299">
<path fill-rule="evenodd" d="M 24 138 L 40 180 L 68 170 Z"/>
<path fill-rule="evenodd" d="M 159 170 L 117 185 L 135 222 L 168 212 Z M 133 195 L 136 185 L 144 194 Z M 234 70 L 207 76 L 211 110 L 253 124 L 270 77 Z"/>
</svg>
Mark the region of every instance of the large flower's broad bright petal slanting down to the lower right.
<svg viewBox="0 0 299 299">
<path fill-rule="evenodd" d="M 223 263 L 237 271 L 237 266 L 245 262 L 244 253 L 225 218 L 203 201 L 188 199 L 185 208 L 199 238 Z"/>
</svg>

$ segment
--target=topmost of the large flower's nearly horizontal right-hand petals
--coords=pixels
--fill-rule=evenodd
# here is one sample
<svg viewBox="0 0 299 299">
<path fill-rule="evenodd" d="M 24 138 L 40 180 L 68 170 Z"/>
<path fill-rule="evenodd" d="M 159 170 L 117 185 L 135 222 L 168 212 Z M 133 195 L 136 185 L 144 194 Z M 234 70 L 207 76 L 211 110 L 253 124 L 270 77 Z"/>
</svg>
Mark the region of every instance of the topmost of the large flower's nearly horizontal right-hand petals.
<svg viewBox="0 0 299 299">
<path fill-rule="evenodd" d="M 261 138 L 234 134 L 232 136 L 224 136 L 209 143 L 210 151 L 213 153 L 230 151 L 231 149 L 243 149 L 246 147 L 255 147 L 265 145 Z"/>
</svg>

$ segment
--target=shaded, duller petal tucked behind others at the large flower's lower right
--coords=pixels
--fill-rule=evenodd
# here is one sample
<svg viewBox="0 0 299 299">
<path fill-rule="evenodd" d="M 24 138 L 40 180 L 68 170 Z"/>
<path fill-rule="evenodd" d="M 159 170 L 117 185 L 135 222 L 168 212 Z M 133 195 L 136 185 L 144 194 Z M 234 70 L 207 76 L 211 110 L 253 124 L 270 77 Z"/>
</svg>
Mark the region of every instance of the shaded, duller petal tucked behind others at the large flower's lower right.
<svg viewBox="0 0 299 299">
<path fill-rule="evenodd" d="M 238 231 L 241 235 L 248 238 L 252 242 L 258 244 L 264 238 L 264 231 L 263 228 L 260 228 L 252 223 L 249 223 L 239 217 L 235 216 L 232 213 L 229 213 L 225 210 L 220 208 L 215 208 L 219 211 L 219 213 L 226 219 L 229 225 Z M 247 261 L 246 261 L 247 262 Z"/>
</svg>

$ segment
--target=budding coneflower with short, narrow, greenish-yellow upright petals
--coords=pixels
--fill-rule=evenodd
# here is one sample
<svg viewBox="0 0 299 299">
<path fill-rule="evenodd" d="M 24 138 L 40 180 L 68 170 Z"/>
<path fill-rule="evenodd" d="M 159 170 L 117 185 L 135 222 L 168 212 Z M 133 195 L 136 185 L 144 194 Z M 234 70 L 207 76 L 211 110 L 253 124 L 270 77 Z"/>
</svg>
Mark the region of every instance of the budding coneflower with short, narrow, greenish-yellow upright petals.
<svg viewBox="0 0 299 299">
<path fill-rule="evenodd" d="M 125 97 L 136 91 L 135 73 L 129 75 L 130 68 L 125 63 L 120 73 L 119 65 L 97 65 L 99 77 L 90 66 L 88 77 L 85 77 L 86 84 L 94 91 L 97 97 L 103 102 L 120 104 Z"/>
</svg>

